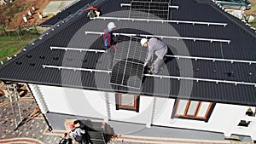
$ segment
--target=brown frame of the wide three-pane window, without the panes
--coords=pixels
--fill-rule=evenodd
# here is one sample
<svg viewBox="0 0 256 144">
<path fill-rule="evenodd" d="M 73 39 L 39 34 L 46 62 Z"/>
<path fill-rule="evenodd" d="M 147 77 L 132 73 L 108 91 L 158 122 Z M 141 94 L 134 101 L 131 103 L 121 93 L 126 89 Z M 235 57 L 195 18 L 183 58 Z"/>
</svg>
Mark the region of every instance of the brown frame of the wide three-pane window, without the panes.
<svg viewBox="0 0 256 144">
<path fill-rule="evenodd" d="M 201 120 L 201 121 L 205 121 L 206 123 L 208 122 L 209 118 L 211 117 L 212 111 L 213 111 L 213 109 L 216 105 L 216 103 L 210 102 L 210 104 L 207 108 L 207 112 L 205 114 L 205 117 L 197 117 L 197 114 L 200 112 L 201 104 L 204 101 L 197 101 L 197 102 L 199 102 L 199 104 L 196 108 L 195 116 L 187 115 L 187 113 L 189 111 L 189 106 L 190 106 L 191 100 L 183 100 L 183 101 L 188 101 L 187 104 L 186 104 L 185 111 L 184 111 L 183 115 L 177 114 L 177 108 L 178 108 L 178 105 L 179 105 L 179 101 L 180 100 L 175 100 L 175 104 L 174 104 L 174 107 L 173 107 L 173 110 L 172 110 L 172 118 L 184 118 L 184 119 L 192 119 L 192 120 Z"/>
</svg>

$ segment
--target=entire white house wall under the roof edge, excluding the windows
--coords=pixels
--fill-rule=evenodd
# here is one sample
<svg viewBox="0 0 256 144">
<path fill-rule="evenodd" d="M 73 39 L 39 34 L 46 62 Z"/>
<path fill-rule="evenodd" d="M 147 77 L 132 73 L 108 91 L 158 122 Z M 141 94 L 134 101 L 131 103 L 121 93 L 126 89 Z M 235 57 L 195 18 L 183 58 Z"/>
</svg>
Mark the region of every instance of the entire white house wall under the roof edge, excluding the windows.
<svg viewBox="0 0 256 144">
<path fill-rule="evenodd" d="M 35 87 L 36 88 L 36 87 Z M 245 115 L 247 108 L 243 106 L 216 104 L 208 122 L 183 118 L 171 118 L 175 103 L 174 99 L 154 98 L 140 96 L 139 112 L 116 110 L 115 94 L 84 90 L 38 85 L 41 95 L 44 95 L 39 107 L 49 112 L 58 112 L 84 116 L 89 118 L 102 118 L 128 123 L 145 125 L 160 125 L 191 130 L 207 130 L 231 134 L 251 135 L 256 140 L 256 118 Z M 34 87 L 32 91 L 34 92 Z M 35 95 L 35 94 L 34 94 Z M 38 99 L 36 93 L 36 99 Z M 155 102 L 154 102 L 155 100 Z M 39 99 L 38 99 L 39 101 Z M 155 103 L 155 105 L 154 105 Z M 152 118 L 153 117 L 153 118 Z M 249 126 L 239 127 L 240 120 L 252 121 Z"/>
</svg>

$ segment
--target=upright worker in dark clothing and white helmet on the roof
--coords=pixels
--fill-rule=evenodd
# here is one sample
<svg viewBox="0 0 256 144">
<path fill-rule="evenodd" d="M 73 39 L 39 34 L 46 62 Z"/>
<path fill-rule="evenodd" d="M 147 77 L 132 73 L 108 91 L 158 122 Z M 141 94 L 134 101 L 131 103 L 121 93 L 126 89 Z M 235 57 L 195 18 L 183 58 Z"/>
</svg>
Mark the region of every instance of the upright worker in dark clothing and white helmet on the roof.
<svg viewBox="0 0 256 144">
<path fill-rule="evenodd" d="M 112 69 L 113 65 L 113 55 L 116 50 L 115 44 L 117 41 L 115 40 L 116 37 L 113 36 L 113 29 L 116 28 L 113 22 L 108 23 L 108 28 L 104 30 L 104 35 L 102 38 L 102 43 L 104 45 L 104 49 L 106 49 L 106 53 L 109 56 L 108 61 L 108 70 Z"/>
</svg>

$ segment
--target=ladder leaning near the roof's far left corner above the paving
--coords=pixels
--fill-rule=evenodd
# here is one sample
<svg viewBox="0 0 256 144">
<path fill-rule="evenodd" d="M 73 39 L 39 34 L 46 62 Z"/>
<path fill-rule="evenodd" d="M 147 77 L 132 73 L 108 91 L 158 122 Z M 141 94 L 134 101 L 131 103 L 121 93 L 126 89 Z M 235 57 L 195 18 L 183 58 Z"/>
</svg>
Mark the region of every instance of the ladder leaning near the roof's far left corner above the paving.
<svg viewBox="0 0 256 144">
<path fill-rule="evenodd" d="M 19 95 L 16 88 L 16 84 L 8 84 L 7 89 L 9 94 L 9 103 L 13 112 L 16 130 L 23 121 L 20 111 Z"/>
</svg>

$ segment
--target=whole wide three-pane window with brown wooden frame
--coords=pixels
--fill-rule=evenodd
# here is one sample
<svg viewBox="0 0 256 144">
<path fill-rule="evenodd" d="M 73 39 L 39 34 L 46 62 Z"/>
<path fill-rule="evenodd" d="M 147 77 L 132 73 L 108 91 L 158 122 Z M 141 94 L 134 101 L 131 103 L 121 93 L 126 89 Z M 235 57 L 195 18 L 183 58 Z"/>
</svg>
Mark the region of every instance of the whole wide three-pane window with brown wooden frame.
<svg viewBox="0 0 256 144">
<path fill-rule="evenodd" d="M 177 100 L 172 118 L 186 118 L 207 122 L 211 116 L 214 104 L 212 102 Z"/>
</svg>

